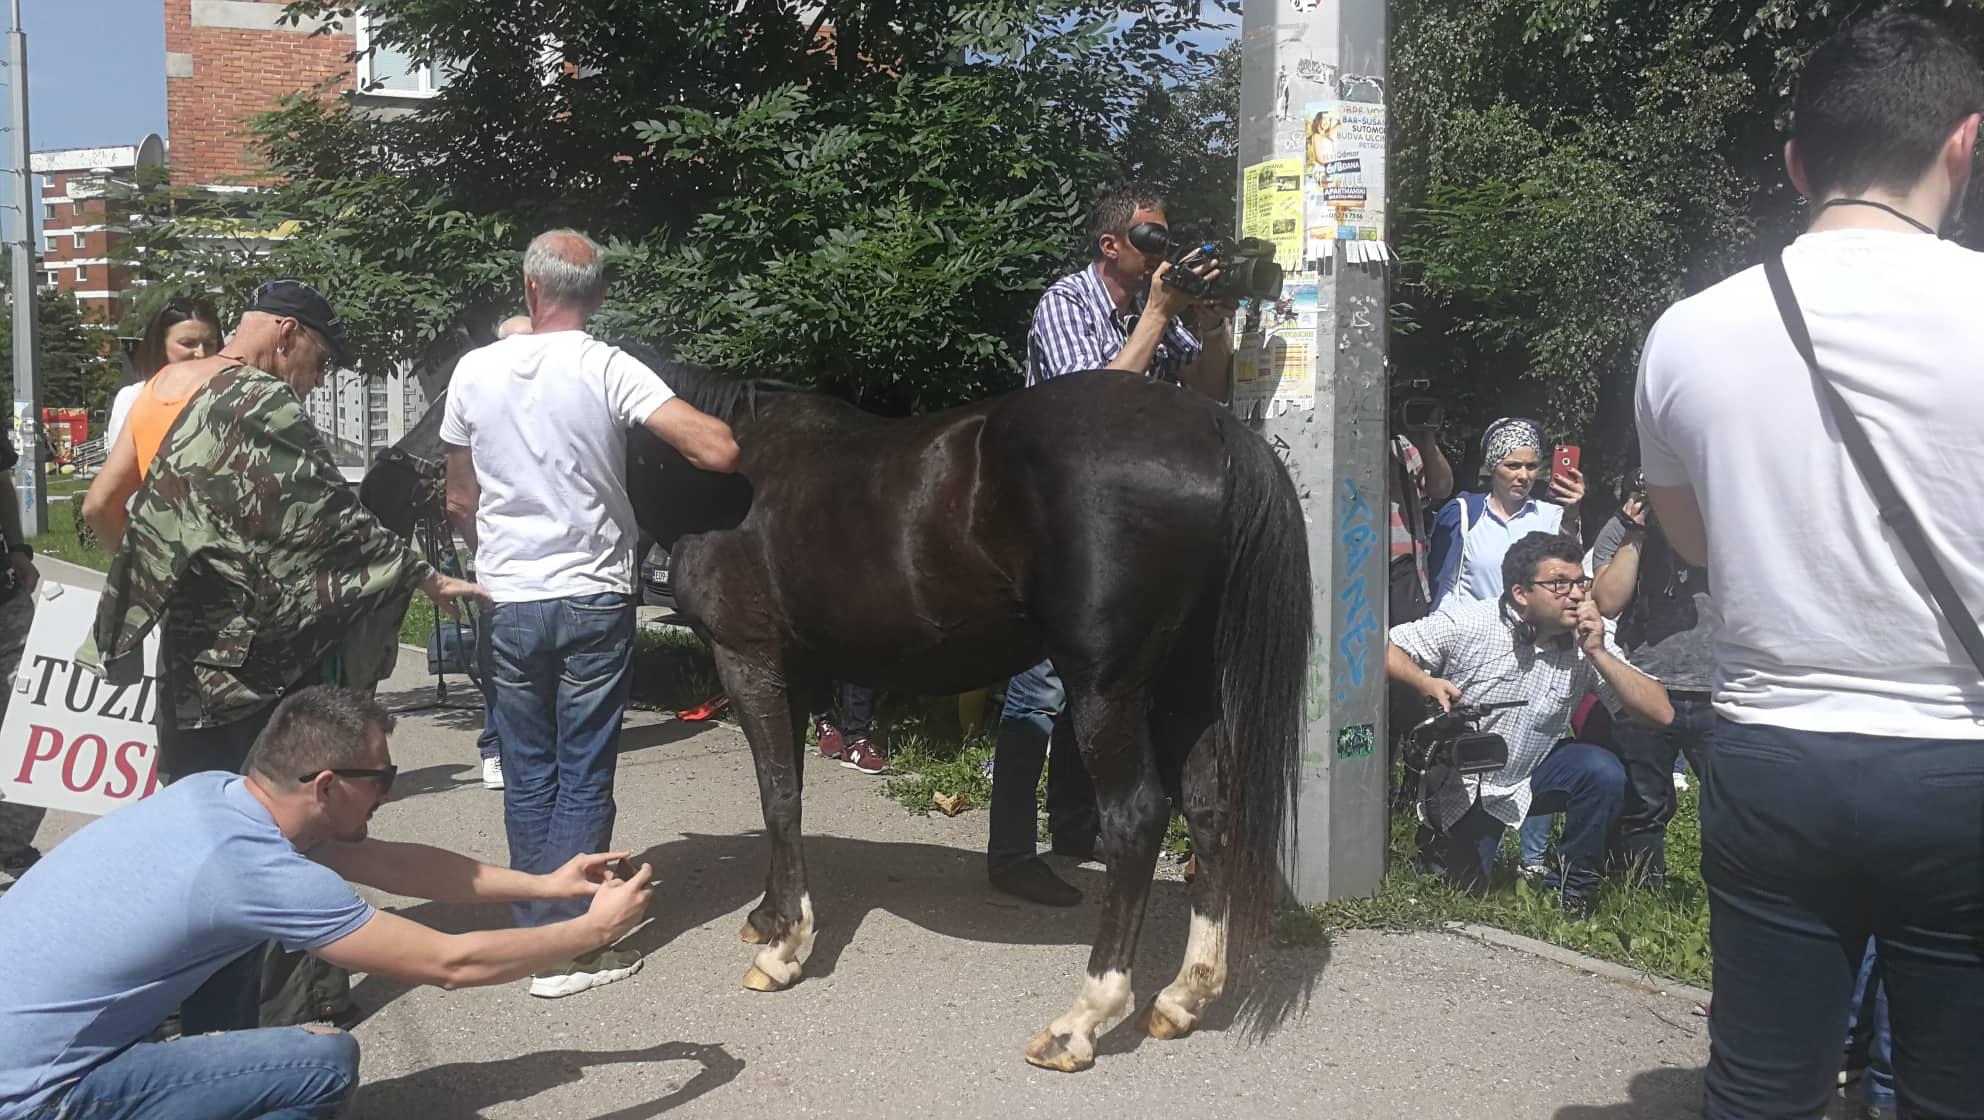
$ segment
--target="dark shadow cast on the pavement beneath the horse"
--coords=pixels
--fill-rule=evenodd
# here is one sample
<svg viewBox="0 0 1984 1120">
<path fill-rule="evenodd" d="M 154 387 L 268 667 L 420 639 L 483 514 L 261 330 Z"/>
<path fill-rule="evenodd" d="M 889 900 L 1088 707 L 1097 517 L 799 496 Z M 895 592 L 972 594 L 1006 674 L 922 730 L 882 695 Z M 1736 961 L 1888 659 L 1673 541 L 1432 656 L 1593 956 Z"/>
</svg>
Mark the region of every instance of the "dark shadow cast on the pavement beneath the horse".
<svg viewBox="0 0 1984 1120">
<path fill-rule="evenodd" d="M 655 902 L 647 926 L 623 946 L 649 955 L 690 930 L 718 920 L 730 922 L 762 896 L 768 854 L 764 833 L 730 837 L 690 833 L 641 852 L 635 862 L 655 868 Z M 986 886 L 982 854 L 944 844 L 821 835 L 806 839 L 806 864 L 817 922 L 813 953 L 806 961 L 807 979 L 833 975 L 849 948 L 859 953 L 857 932 L 871 912 L 887 912 L 932 934 L 964 942 L 1087 946 L 1095 938 L 1097 902 L 1103 892 L 1101 870 L 1071 868 L 1065 860 L 1057 860 L 1069 882 L 1081 888 L 1085 902 L 1067 910 L 1028 906 Z M 450 934 L 510 924 L 510 908 L 500 904 L 429 902 L 397 912 Z M 1149 916 L 1137 948 L 1139 967 L 1133 971 L 1137 1007 L 1147 1005 L 1178 973 L 1188 912 L 1186 884 L 1173 880 L 1151 884 Z M 722 934 L 734 932 L 724 928 Z M 750 965 L 750 946 L 738 944 L 734 961 L 738 977 Z M 1272 1033 L 1302 1015 L 1327 963 L 1327 948 L 1266 950 L 1260 967 L 1236 971 L 1226 995 L 1206 1011 L 1202 1029 L 1224 1031 L 1238 1021 L 1250 1037 Z M 1079 971 L 1071 969 L 1067 993 L 1073 993 L 1077 983 Z M 369 1017 L 399 999 L 407 987 L 401 981 L 365 977 L 353 987 L 353 1001 L 361 1015 Z M 1042 1025 L 1061 1011 L 1054 999 L 1044 1003 Z M 1105 1037 L 1103 1053 L 1131 1051 L 1141 1039 L 1133 1015 L 1127 1027 L 1117 1027 Z"/>
</svg>

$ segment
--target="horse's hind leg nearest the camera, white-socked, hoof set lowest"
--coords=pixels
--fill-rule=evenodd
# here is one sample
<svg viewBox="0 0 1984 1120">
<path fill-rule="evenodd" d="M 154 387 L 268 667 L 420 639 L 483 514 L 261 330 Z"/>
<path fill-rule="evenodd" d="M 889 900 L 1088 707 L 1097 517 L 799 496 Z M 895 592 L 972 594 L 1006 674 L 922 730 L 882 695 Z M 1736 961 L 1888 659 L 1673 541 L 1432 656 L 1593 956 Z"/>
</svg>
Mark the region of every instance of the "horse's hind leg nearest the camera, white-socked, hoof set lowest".
<svg viewBox="0 0 1984 1120">
<path fill-rule="evenodd" d="M 1099 698 L 1087 686 L 1067 684 L 1067 712 L 1081 737 L 1081 757 L 1095 779 L 1109 886 L 1081 993 L 1065 1015 L 1034 1039 L 1026 1061 L 1075 1072 L 1095 1064 L 1095 1035 L 1129 1007 L 1129 965 L 1143 930 L 1157 848 L 1165 840 L 1169 803 L 1151 753 L 1149 700 L 1141 694 Z"/>
</svg>

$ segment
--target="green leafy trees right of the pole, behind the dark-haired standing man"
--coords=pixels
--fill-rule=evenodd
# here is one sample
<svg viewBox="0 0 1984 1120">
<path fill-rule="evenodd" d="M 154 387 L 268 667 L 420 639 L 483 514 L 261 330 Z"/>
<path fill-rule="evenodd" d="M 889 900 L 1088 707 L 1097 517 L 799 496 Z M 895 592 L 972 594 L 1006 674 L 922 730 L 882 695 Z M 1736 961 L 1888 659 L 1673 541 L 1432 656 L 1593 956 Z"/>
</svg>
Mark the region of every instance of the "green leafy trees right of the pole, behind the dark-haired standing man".
<svg viewBox="0 0 1984 1120">
<path fill-rule="evenodd" d="M 1603 478 L 1633 452 L 1641 341 L 1801 224 L 1782 125 L 1803 57 L 1881 4 L 1393 4 L 1395 365 L 1454 436 L 1532 412 Z M 1905 4 L 1984 44 L 1984 4 Z"/>
</svg>

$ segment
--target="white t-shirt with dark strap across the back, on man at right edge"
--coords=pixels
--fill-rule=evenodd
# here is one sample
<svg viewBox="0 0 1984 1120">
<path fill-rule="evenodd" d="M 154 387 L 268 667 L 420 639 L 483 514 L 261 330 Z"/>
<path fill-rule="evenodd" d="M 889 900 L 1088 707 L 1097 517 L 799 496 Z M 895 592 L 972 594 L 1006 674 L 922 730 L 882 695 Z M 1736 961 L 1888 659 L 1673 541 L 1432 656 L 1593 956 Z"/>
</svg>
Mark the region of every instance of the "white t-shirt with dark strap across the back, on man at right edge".
<svg viewBox="0 0 1984 1120">
<path fill-rule="evenodd" d="M 1835 230 L 1786 252 L 1819 367 L 1930 547 L 1984 609 L 1984 256 Z M 1716 712 L 1740 724 L 1984 735 L 1984 680 L 1823 418 L 1762 268 L 1669 307 L 1647 337 L 1653 486 L 1692 486 L 1722 609 Z"/>
</svg>

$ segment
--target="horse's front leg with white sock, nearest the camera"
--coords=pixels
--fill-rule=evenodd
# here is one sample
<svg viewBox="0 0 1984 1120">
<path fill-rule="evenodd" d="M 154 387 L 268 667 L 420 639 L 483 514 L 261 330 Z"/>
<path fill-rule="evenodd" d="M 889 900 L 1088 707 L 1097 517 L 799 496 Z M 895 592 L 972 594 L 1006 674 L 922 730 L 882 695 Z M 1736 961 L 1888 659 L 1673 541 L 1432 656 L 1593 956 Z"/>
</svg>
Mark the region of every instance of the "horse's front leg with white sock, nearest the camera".
<svg viewBox="0 0 1984 1120">
<path fill-rule="evenodd" d="M 744 973 L 744 987 L 782 991 L 800 979 L 800 965 L 813 952 L 813 900 L 806 892 L 806 854 L 800 850 L 800 735 L 806 714 L 798 710 L 798 692 L 786 676 L 760 656 L 716 646 L 716 672 L 750 739 L 764 831 L 772 840 L 764 900 L 738 932 L 744 942 L 760 946 Z"/>
</svg>

